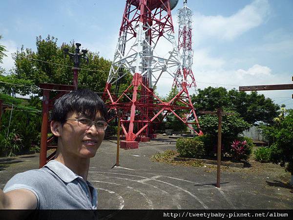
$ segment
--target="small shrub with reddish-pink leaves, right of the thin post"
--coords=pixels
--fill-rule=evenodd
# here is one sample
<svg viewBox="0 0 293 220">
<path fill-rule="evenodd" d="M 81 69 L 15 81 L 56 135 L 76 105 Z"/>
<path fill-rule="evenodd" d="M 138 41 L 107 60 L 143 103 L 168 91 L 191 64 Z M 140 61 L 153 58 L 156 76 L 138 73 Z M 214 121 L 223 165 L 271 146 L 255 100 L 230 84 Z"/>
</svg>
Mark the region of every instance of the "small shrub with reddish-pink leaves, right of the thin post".
<svg viewBox="0 0 293 220">
<path fill-rule="evenodd" d="M 251 138 L 249 137 L 238 137 L 233 141 L 230 148 L 230 154 L 233 157 L 233 160 L 247 160 L 251 153 L 254 144 Z"/>
</svg>

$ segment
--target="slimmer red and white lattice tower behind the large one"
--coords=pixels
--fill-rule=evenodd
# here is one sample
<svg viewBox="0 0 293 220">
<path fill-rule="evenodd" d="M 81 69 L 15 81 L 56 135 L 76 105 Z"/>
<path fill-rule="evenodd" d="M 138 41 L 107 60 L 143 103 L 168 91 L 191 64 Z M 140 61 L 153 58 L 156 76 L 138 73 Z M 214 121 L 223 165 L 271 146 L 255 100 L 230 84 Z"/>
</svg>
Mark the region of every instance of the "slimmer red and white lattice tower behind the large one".
<svg viewBox="0 0 293 220">
<path fill-rule="evenodd" d="M 187 88 L 196 89 L 196 83 L 192 72 L 193 51 L 192 51 L 192 11 L 184 0 L 183 7 L 178 10 L 178 50 L 182 62 L 181 69 L 177 72 L 173 86 L 180 87 L 183 80 L 187 83 Z M 183 74 L 182 74 L 183 73 Z"/>
</svg>

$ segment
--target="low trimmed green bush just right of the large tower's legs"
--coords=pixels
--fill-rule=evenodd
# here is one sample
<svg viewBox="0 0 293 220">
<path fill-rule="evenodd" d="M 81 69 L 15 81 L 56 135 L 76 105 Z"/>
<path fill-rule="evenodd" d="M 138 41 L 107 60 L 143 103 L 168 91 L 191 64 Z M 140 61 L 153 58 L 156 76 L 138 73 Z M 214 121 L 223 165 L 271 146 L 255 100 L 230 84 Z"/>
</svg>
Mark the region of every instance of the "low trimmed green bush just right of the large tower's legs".
<svg viewBox="0 0 293 220">
<path fill-rule="evenodd" d="M 199 137 L 179 138 L 176 149 L 181 157 L 203 158 L 205 156 L 204 142 Z"/>
</svg>

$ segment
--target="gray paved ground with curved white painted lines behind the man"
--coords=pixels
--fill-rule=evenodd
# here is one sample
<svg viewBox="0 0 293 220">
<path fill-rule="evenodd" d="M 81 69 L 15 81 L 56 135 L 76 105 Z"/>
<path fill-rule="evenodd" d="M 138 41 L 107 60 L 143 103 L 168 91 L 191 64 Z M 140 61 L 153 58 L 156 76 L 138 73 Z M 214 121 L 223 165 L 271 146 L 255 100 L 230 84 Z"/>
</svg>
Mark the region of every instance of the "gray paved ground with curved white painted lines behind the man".
<svg viewBox="0 0 293 220">
<path fill-rule="evenodd" d="M 175 150 L 174 140 L 170 141 L 141 143 L 137 150 L 121 149 L 120 167 L 114 168 L 116 142 L 104 141 L 91 160 L 88 177 L 98 190 L 98 208 L 293 209 L 292 189 L 276 176 L 237 168 L 223 170 L 218 189 L 214 186 L 215 169 L 151 161 L 153 154 Z M 0 158 L 0 188 L 14 174 L 37 169 L 38 163 L 39 154 Z"/>
</svg>

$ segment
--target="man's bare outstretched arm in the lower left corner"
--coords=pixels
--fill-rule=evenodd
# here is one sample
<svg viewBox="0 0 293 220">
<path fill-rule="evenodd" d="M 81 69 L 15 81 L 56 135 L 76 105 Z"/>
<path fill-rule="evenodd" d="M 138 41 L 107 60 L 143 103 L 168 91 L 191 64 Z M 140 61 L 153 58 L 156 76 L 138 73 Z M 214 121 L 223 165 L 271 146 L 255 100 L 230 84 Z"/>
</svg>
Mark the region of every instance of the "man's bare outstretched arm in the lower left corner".
<svg viewBox="0 0 293 220">
<path fill-rule="evenodd" d="M 0 189 L 0 209 L 36 209 L 35 194 L 26 189 L 16 189 L 4 193 Z"/>
</svg>

